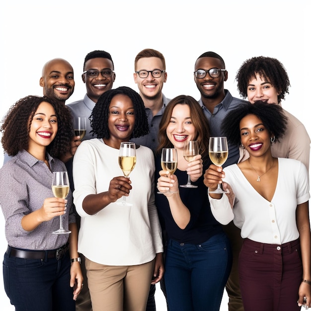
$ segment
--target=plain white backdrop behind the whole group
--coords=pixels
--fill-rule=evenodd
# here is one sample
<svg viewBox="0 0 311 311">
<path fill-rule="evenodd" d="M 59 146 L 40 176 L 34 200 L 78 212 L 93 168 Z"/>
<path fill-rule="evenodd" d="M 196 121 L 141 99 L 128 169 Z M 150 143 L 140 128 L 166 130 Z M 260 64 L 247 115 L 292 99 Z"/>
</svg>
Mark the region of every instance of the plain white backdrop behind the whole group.
<svg viewBox="0 0 311 311">
<path fill-rule="evenodd" d="M 64 58 L 74 68 L 76 88 L 67 103 L 81 99 L 85 94 L 80 78 L 83 61 L 93 50 L 112 55 L 114 87 L 127 85 L 138 91 L 133 80 L 135 56 L 142 49 L 156 49 L 166 60 L 166 97 L 187 94 L 199 99 L 194 63 L 202 53 L 214 51 L 225 60 L 229 72 L 225 87 L 235 97 L 239 94 L 234 78 L 244 60 L 260 55 L 279 59 L 291 81 L 290 94 L 282 105 L 311 134 L 309 1 L 64 0 L 47 4 L 16 0 L 4 4 L 7 2 L 0 4 L 0 116 L 19 98 L 42 95 L 41 70 L 53 58 Z M 2 160 L 1 149 L 0 163 Z M 5 249 L 0 216 L 0 256 Z M 160 289 L 156 300 L 157 310 L 165 310 Z M 14 309 L 2 280 L 0 301 L 1 310 Z M 225 292 L 222 311 L 227 310 L 227 302 Z"/>
</svg>

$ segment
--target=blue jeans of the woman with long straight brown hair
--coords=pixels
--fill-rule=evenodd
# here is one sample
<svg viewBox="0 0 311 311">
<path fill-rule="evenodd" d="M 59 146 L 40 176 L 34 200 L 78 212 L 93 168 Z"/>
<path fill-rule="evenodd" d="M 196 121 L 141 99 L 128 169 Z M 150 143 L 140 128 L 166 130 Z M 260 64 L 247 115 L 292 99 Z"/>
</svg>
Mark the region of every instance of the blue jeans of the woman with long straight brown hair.
<svg viewBox="0 0 311 311">
<path fill-rule="evenodd" d="M 198 245 L 169 240 L 164 274 L 169 310 L 219 311 L 231 266 L 225 233 Z"/>
</svg>

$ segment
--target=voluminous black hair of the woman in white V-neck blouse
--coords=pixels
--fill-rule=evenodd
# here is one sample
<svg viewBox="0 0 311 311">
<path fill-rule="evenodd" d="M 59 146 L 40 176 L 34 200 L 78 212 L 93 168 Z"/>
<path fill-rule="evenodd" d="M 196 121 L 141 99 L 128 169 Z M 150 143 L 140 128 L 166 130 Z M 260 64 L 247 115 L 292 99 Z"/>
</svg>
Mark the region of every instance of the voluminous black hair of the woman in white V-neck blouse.
<svg viewBox="0 0 311 311">
<path fill-rule="evenodd" d="M 224 136 L 227 136 L 228 141 L 233 145 L 239 146 L 241 144 L 240 121 L 249 114 L 257 116 L 262 121 L 269 133 L 275 136 L 275 142 L 279 141 L 284 135 L 287 126 L 287 117 L 284 115 L 282 107 L 277 104 L 256 101 L 253 104 L 246 103 L 239 105 L 224 118 L 222 130 Z"/>
</svg>

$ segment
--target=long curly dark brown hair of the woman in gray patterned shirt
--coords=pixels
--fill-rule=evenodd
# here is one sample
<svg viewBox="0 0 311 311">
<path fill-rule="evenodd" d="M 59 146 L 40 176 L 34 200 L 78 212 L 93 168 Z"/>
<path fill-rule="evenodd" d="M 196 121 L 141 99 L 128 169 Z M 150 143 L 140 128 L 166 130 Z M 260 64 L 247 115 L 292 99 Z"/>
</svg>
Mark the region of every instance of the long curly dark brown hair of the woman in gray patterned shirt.
<svg viewBox="0 0 311 311">
<path fill-rule="evenodd" d="M 58 124 L 57 134 L 47 147 L 47 152 L 53 157 L 60 157 L 70 150 L 74 128 L 69 108 L 53 98 L 29 95 L 19 99 L 11 106 L 1 126 L 1 143 L 8 156 L 15 156 L 19 151 L 28 149 L 31 125 L 29 120 L 33 119 L 42 102 L 48 102 L 53 106 Z"/>
</svg>

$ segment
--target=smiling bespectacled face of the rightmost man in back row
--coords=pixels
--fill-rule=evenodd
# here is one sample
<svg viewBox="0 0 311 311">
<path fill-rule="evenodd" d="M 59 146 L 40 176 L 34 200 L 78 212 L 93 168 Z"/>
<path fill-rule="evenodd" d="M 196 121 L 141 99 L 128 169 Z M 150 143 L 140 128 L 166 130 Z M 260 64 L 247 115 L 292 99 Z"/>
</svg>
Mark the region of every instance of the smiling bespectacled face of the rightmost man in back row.
<svg viewBox="0 0 311 311">
<path fill-rule="evenodd" d="M 218 58 L 201 57 L 196 61 L 194 71 L 198 69 L 210 70 L 212 68 L 225 69 Z M 225 97 L 224 81 L 226 81 L 227 78 L 227 71 L 221 72 L 218 78 L 212 78 L 208 73 L 201 79 L 196 78 L 194 75 L 194 81 L 201 93 L 201 97 L 218 99 L 219 102 Z"/>
</svg>

